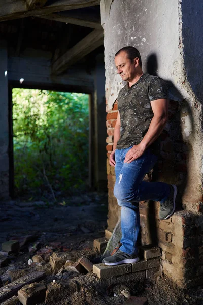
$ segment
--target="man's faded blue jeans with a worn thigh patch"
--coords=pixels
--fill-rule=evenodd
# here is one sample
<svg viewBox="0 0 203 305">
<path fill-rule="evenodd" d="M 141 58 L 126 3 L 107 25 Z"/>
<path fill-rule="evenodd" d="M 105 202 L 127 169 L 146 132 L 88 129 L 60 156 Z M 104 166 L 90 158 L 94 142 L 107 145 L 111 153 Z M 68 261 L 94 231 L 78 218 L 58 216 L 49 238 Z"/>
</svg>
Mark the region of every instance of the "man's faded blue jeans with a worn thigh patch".
<svg viewBox="0 0 203 305">
<path fill-rule="evenodd" d="M 125 155 L 131 147 L 115 151 L 114 196 L 121 206 L 120 250 L 128 254 L 137 254 L 136 242 L 140 231 L 139 201 L 164 202 L 170 194 L 170 186 L 163 182 L 143 181 L 144 176 L 150 172 L 158 159 L 151 153 L 150 148 L 140 158 L 131 163 L 124 163 Z"/>
</svg>

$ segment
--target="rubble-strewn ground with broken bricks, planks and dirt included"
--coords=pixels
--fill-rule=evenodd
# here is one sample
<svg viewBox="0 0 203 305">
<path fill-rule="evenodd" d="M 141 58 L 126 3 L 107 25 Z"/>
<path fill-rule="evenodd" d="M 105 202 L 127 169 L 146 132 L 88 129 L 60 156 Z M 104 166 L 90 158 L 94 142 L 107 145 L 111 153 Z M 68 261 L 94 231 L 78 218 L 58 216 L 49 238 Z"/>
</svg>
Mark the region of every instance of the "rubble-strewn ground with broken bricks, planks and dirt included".
<svg viewBox="0 0 203 305">
<path fill-rule="evenodd" d="M 5 244 L 0 252 L 2 305 L 202 303 L 201 287 L 183 291 L 163 275 L 106 283 L 93 274 L 93 264 L 100 263 L 108 242 L 107 194 L 78 197 L 63 198 L 62 205 L 10 201 L 0 207 L 0 242 Z"/>
</svg>

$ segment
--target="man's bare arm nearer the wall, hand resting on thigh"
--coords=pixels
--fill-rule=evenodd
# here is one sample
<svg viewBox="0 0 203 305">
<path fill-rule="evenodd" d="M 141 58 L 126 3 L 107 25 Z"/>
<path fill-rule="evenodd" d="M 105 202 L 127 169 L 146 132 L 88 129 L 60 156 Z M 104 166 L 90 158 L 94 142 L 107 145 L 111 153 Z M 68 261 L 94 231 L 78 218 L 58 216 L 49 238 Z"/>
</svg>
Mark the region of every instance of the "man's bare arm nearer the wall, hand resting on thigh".
<svg viewBox="0 0 203 305">
<path fill-rule="evenodd" d="M 126 154 L 124 163 L 130 163 L 141 157 L 145 150 L 158 138 L 168 120 L 168 100 L 158 99 L 151 101 L 154 116 L 149 129 L 138 145 L 134 145 Z"/>
</svg>

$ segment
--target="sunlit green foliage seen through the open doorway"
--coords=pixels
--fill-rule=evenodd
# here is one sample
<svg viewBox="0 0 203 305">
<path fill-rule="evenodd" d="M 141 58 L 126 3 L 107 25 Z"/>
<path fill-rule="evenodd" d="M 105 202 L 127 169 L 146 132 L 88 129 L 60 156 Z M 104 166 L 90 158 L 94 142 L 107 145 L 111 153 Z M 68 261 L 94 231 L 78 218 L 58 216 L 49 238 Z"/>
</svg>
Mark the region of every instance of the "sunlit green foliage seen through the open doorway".
<svg viewBox="0 0 203 305">
<path fill-rule="evenodd" d="M 88 95 L 13 89 L 18 194 L 83 189 L 88 178 Z"/>
</svg>

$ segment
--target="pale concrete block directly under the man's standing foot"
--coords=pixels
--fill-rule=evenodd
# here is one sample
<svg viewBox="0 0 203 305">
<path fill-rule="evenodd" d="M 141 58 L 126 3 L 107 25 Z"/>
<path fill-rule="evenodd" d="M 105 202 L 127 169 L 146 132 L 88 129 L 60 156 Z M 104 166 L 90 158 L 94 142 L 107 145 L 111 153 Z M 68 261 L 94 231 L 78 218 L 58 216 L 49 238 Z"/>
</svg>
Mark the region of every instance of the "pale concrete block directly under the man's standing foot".
<svg viewBox="0 0 203 305">
<path fill-rule="evenodd" d="M 117 266 L 106 266 L 105 264 L 93 265 L 93 273 L 95 273 L 100 279 L 124 275 L 126 273 L 130 273 L 131 271 L 131 264 L 122 264 Z"/>
</svg>

